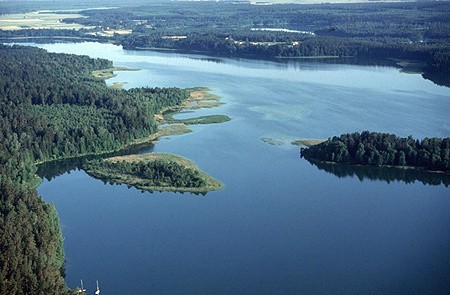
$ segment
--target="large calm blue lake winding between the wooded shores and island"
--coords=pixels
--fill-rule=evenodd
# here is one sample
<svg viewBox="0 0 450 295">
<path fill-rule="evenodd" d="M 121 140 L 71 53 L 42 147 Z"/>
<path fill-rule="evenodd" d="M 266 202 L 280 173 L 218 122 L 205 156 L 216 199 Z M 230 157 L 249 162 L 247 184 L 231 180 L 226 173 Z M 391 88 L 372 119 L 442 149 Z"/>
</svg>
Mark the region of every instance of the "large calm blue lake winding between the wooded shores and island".
<svg viewBox="0 0 450 295">
<path fill-rule="evenodd" d="M 391 67 L 36 46 L 141 69 L 107 81 L 125 88 L 209 87 L 224 105 L 178 116 L 232 118 L 135 151 L 184 156 L 225 184 L 204 196 L 105 184 L 76 164 L 43 169 L 38 191 L 60 216 L 69 287 L 83 279 L 89 293 L 98 280 L 105 294 L 450 292 L 448 178 L 336 172 L 290 144 L 363 130 L 448 137 L 449 88 Z"/>
</svg>

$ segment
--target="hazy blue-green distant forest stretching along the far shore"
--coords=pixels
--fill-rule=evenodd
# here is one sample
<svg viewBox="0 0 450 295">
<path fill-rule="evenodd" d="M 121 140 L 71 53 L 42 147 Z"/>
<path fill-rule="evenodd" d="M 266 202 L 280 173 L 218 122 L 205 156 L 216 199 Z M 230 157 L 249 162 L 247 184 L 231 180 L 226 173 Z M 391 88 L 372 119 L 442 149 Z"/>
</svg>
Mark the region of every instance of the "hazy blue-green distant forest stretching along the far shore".
<svg viewBox="0 0 450 295">
<path fill-rule="evenodd" d="M 171 2 L 81 13 L 85 18 L 64 21 L 94 29 L 4 31 L 0 37 L 82 37 L 112 41 L 129 49 L 264 59 L 414 60 L 423 64 L 421 70 L 428 75 L 450 72 L 447 1 L 267 6 Z M 290 31 L 273 31 L 280 28 Z M 114 30 L 118 33 L 104 34 Z"/>
</svg>

